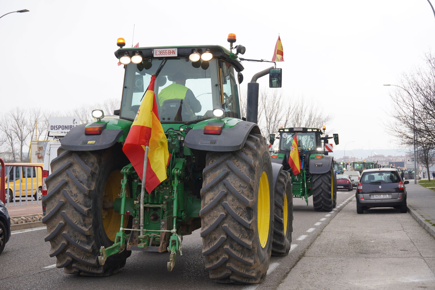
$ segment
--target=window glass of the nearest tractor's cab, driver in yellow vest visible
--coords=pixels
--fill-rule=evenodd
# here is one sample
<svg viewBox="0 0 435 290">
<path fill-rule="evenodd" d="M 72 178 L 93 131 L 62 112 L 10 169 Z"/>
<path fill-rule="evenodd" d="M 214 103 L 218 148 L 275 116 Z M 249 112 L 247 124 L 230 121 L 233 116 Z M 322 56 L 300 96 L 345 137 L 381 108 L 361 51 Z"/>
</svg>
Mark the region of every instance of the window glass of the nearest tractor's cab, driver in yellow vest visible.
<svg viewBox="0 0 435 290">
<path fill-rule="evenodd" d="M 216 108 L 224 109 L 228 117 L 241 117 L 233 67 L 218 61 L 210 60 L 208 67 L 203 66 L 205 69 L 193 67 L 184 57 L 166 61 L 154 82 L 161 123 L 185 123 L 214 117 L 212 111 Z M 142 63 L 127 65 L 120 118 L 134 120 L 151 74 L 161 62 L 160 59 L 152 59 L 152 62 L 145 59 Z M 218 64 L 221 70 L 218 70 Z"/>
</svg>

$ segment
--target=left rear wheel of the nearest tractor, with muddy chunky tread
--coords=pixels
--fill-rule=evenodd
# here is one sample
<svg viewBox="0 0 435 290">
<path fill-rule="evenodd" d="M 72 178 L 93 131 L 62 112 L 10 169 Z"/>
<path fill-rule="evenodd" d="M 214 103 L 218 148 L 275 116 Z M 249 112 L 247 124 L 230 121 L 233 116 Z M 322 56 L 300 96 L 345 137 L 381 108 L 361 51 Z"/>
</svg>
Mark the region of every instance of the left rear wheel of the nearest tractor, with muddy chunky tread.
<svg viewBox="0 0 435 290">
<path fill-rule="evenodd" d="M 111 246 L 120 228 L 120 215 L 102 207 L 103 199 L 113 201 L 120 193 L 120 169 L 128 164 L 121 148 L 116 149 L 59 148 L 59 156 L 51 163 L 53 173 L 46 179 L 47 195 L 42 200 L 47 214 L 42 222 L 47 225 L 50 257 L 56 256 L 56 266 L 65 273 L 109 276 L 124 267 L 131 254 L 125 250 L 108 257 L 103 266 L 98 263 L 100 247 Z"/>
</svg>

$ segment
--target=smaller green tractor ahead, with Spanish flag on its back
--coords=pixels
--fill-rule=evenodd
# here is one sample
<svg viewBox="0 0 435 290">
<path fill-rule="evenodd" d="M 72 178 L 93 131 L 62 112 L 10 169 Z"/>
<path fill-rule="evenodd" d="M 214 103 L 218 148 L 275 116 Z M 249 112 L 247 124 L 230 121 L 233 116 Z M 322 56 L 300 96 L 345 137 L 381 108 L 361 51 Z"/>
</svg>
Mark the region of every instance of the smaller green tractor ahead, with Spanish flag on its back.
<svg viewBox="0 0 435 290">
<path fill-rule="evenodd" d="M 323 127 L 325 130 L 325 127 Z M 333 137 L 321 137 L 324 132 L 316 128 L 280 128 L 279 151 L 271 157 L 291 174 L 293 197 L 304 198 L 308 205 L 308 197 L 313 197 L 313 207 L 317 211 L 331 211 L 337 204 L 337 180 L 335 178 L 334 157 L 328 155 L 325 143 L 334 138 L 338 144 L 338 134 Z M 294 175 L 288 158 L 292 148 L 294 134 L 298 140 L 298 151 L 301 159 L 301 173 Z M 273 144 L 275 134 L 271 134 Z"/>
</svg>

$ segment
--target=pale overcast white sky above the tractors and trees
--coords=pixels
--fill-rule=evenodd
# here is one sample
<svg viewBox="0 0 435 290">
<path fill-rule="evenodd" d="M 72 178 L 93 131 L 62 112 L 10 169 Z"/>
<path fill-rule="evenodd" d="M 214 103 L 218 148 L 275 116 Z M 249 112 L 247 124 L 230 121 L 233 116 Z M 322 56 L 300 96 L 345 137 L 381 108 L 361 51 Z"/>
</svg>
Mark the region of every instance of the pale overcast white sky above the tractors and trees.
<svg viewBox="0 0 435 290">
<path fill-rule="evenodd" d="M 398 84 L 402 72 L 421 65 L 435 40 L 427 0 L 15 0 L 2 1 L 0 15 L 21 9 L 30 12 L 0 19 L 1 113 L 16 106 L 70 110 L 120 99 L 118 37 L 129 47 L 228 47 L 227 35 L 235 33 L 236 44 L 246 47 L 243 57 L 271 60 L 280 33 L 281 90 L 290 100 L 303 96 L 334 114 L 325 125 L 339 133 L 337 150 L 346 144 L 346 150 L 396 148 L 384 125 L 393 88 L 382 85 Z M 242 89 L 254 73 L 270 67 L 243 64 Z M 268 79 L 259 83 L 266 87 Z"/>
</svg>

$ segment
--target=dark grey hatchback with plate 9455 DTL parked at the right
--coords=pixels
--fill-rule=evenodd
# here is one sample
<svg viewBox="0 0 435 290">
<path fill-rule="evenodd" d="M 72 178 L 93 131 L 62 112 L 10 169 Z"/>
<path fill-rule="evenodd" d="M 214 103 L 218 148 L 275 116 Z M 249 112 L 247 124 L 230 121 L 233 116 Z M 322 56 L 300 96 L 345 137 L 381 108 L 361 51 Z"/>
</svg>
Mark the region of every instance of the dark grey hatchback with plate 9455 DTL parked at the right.
<svg viewBox="0 0 435 290">
<path fill-rule="evenodd" d="M 356 212 L 364 213 L 371 207 L 394 207 L 406 213 L 405 184 L 408 183 L 395 168 L 364 170 L 356 191 Z"/>
</svg>

